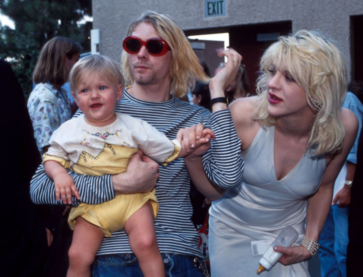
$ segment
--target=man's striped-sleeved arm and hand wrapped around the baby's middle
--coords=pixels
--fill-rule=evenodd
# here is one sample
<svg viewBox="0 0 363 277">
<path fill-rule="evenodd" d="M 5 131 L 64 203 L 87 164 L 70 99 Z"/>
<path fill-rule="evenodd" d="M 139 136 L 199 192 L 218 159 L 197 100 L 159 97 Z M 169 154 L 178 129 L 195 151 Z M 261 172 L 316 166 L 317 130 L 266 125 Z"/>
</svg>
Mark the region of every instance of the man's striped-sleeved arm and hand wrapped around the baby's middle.
<svg viewBox="0 0 363 277">
<path fill-rule="evenodd" d="M 113 199 L 116 194 L 151 191 L 159 178 L 158 169 L 156 162 L 142 156 L 139 151 L 131 157 L 125 173 L 88 176 L 67 170 L 81 196 L 80 200 L 72 197 L 72 203 L 74 206 L 81 202 L 100 204 Z M 31 180 L 30 196 L 36 204 L 62 204 L 56 199 L 54 183 L 46 176 L 43 165 L 39 166 Z"/>
</svg>

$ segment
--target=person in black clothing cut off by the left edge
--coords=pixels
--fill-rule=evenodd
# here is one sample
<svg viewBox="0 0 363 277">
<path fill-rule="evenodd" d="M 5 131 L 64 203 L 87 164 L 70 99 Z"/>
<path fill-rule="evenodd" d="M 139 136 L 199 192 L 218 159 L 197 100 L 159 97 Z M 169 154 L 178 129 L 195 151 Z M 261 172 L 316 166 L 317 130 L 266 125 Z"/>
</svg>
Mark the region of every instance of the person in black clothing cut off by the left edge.
<svg viewBox="0 0 363 277">
<path fill-rule="evenodd" d="M 43 217 L 48 213 L 46 207 L 35 206 L 29 195 L 30 179 L 41 159 L 23 91 L 10 65 L 3 60 L 0 60 L 0 82 L 5 103 L 0 109 L 0 126 L 7 134 L 3 132 L 1 136 L 2 154 L 6 157 L 0 167 L 1 192 L 16 193 L 16 203 L 13 197 L 1 200 L 0 248 L 4 252 L 0 259 L 1 275 L 44 277 L 48 244 L 52 243 L 49 230 L 47 243 L 46 226 L 51 227 Z"/>
</svg>

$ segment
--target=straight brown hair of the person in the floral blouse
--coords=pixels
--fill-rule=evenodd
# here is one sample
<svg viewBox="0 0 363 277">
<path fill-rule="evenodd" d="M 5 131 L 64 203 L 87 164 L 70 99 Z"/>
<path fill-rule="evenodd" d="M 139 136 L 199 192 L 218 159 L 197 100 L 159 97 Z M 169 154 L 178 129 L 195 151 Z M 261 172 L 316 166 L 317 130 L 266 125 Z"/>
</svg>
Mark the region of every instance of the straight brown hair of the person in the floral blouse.
<svg viewBox="0 0 363 277">
<path fill-rule="evenodd" d="M 70 38 L 55 37 L 49 40 L 40 51 L 33 71 L 35 84 L 51 83 L 63 86 L 68 81 L 68 72 L 64 64 L 64 55 L 71 59 L 82 51 L 82 46 Z"/>
</svg>

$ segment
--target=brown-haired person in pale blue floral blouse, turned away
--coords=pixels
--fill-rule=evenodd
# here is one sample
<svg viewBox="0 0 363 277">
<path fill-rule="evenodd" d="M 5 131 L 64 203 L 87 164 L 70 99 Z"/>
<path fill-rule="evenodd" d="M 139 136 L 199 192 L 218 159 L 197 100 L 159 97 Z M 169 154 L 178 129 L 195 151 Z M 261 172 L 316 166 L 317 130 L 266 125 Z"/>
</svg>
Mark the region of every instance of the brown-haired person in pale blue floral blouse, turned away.
<svg viewBox="0 0 363 277">
<path fill-rule="evenodd" d="M 36 84 L 28 99 L 34 137 L 42 155 L 49 147 L 53 132 L 71 118 L 71 103 L 61 88 L 79 60 L 82 46 L 66 37 L 55 37 L 42 48 L 33 72 Z"/>
</svg>

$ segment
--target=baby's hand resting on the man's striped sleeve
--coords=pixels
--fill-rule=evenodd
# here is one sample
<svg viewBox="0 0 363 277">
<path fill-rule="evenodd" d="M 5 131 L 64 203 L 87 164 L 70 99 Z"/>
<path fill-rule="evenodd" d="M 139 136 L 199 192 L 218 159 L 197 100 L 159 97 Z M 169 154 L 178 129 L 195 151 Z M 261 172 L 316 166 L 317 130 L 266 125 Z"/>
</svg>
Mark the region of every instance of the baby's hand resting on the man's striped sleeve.
<svg viewBox="0 0 363 277">
<path fill-rule="evenodd" d="M 67 200 L 68 204 L 72 204 L 72 195 L 76 196 L 77 199 L 81 199 L 73 178 L 69 176 L 67 172 L 57 174 L 53 181 L 58 201 L 62 198 L 63 204 L 67 204 Z"/>
</svg>

